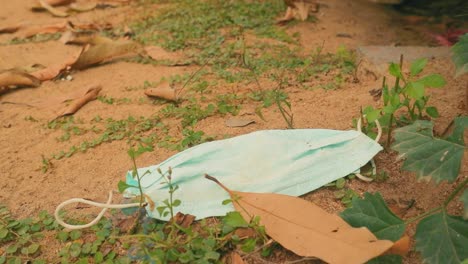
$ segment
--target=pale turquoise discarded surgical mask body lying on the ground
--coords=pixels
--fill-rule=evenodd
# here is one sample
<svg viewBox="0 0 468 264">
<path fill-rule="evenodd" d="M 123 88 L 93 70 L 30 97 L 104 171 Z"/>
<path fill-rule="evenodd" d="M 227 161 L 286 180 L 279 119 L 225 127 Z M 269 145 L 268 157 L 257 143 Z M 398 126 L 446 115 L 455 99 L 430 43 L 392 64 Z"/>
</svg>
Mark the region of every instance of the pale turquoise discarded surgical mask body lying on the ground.
<svg viewBox="0 0 468 264">
<path fill-rule="evenodd" d="M 178 186 L 173 199 L 181 201 L 174 213 L 201 219 L 234 211 L 232 204 L 222 204 L 230 199 L 228 193 L 205 174 L 235 191 L 299 196 L 359 171 L 380 150 L 378 143 L 358 131 L 264 130 L 200 144 L 138 173 L 145 175 L 141 185 L 151 217 L 169 218 L 157 211 L 169 197 L 167 179 L 158 168 L 163 174 L 171 168 L 172 184 Z M 135 186 L 126 190 L 126 196 L 139 195 L 132 172 L 126 182 Z"/>
</svg>

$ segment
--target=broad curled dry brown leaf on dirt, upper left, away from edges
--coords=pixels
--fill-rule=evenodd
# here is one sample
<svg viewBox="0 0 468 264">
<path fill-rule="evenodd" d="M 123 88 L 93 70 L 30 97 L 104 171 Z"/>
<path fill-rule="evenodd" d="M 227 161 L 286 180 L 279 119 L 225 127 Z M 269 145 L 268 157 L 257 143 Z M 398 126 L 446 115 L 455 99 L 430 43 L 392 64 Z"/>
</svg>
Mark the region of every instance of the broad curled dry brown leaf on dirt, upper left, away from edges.
<svg viewBox="0 0 468 264">
<path fill-rule="evenodd" d="M 81 53 L 78 60 L 71 66 L 73 69 L 81 70 L 104 61 L 139 52 L 140 46 L 133 41 L 114 41 L 88 45 Z"/>
</svg>

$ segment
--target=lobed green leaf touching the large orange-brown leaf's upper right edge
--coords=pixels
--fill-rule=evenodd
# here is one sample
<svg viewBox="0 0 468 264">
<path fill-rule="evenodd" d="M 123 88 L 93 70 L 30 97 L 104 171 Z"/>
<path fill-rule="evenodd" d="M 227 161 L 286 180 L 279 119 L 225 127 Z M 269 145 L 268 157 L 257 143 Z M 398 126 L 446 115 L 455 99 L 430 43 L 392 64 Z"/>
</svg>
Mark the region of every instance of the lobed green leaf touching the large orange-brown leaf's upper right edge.
<svg viewBox="0 0 468 264">
<path fill-rule="evenodd" d="M 353 198 L 352 207 L 340 216 L 353 227 L 367 227 L 378 239 L 397 241 L 405 232 L 405 223 L 388 209 L 379 193 Z"/>
</svg>

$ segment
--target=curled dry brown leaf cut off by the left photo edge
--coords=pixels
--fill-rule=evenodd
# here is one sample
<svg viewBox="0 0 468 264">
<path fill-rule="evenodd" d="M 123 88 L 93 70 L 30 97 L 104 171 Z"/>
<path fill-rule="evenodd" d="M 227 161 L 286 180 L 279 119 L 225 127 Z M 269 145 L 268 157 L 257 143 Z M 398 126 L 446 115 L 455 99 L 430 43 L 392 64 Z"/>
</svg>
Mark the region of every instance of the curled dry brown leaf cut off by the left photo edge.
<svg viewBox="0 0 468 264">
<path fill-rule="evenodd" d="M 40 80 L 24 71 L 18 69 L 0 71 L 0 92 L 10 87 L 38 87 L 39 85 L 41 85 Z"/>
</svg>

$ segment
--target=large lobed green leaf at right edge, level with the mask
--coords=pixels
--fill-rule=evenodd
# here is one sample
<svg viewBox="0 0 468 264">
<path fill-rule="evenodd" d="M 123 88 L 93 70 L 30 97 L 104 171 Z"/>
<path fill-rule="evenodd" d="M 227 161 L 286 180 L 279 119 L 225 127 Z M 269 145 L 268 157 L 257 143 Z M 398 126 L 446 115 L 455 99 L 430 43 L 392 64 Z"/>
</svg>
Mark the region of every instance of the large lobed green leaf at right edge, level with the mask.
<svg viewBox="0 0 468 264">
<path fill-rule="evenodd" d="M 418 178 L 431 177 L 437 183 L 453 182 L 460 171 L 465 149 L 462 132 L 468 120 L 456 119 L 454 124 L 454 132 L 446 140 L 433 136 L 429 121 L 418 120 L 396 129 L 392 149 L 405 158 L 403 169 L 416 172 Z"/>
</svg>

